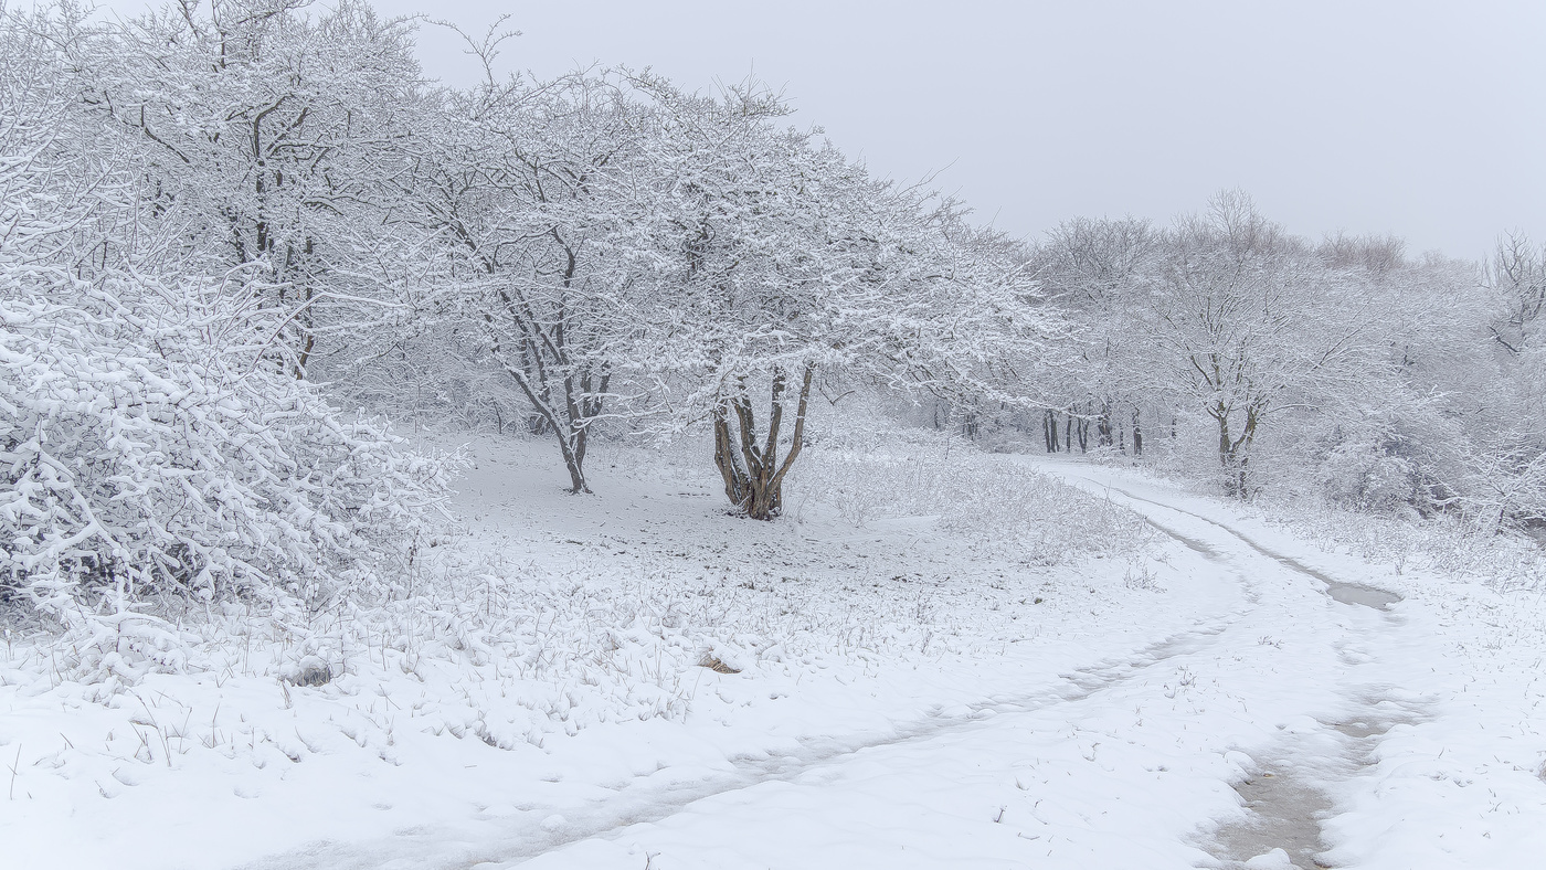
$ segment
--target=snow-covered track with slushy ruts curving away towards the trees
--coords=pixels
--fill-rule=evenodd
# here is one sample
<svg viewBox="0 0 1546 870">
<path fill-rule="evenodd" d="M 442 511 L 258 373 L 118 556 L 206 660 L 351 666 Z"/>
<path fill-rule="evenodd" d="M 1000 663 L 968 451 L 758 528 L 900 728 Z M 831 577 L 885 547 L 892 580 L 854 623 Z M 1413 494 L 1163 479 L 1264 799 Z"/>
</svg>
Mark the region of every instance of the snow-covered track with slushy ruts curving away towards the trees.
<svg viewBox="0 0 1546 870">
<path fill-rule="evenodd" d="M 1187 867 L 1207 853 L 1240 861 L 1286 847 L 1296 865 L 1314 867 L 1309 816 L 1331 808 L 1326 780 L 1356 776 L 1370 731 L 1416 715 L 1371 672 L 1373 649 L 1399 620 L 1323 595 L 1316 572 L 1215 521 L 1156 498 L 1113 498 L 1206 552 L 1245 606 L 1130 661 L 901 739 L 748 765 L 714 794 L 652 807 L 629 825 L 584 825 L 516 864 Z M 1288 644 L 1303 655 L 1283 668 Z M 1240 773 L 1255 785 L 1241 785 L 1251 814 L 1229 788 Z M 1200 836 L 1211 817 L 1232 819 L 1218 842 Z M 1266 855 L 1252 867 L 1288 861 Z"/>
</svg>

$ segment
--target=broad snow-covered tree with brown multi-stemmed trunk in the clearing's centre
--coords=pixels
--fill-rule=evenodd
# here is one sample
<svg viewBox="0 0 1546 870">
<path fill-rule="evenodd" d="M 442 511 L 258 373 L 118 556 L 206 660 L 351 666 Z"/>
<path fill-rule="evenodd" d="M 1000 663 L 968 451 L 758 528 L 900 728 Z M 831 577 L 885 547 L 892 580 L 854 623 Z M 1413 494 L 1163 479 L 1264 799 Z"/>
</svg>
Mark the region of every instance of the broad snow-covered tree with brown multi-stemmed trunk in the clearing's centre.
<svg viewBox="0 0 1546 870">
<path fill-rule="evenodd" d="M 1011 243 L 779 128 L 784 105 L 754 85 L 722 99 L 645 87 L 663 136 L 631 365 L 673 425 L 713 427 L 737 511 L 781 511 L 821 377 L 993 399 L 1034 385 L 1064 323 L 1034 304 Z"/>
</svg>

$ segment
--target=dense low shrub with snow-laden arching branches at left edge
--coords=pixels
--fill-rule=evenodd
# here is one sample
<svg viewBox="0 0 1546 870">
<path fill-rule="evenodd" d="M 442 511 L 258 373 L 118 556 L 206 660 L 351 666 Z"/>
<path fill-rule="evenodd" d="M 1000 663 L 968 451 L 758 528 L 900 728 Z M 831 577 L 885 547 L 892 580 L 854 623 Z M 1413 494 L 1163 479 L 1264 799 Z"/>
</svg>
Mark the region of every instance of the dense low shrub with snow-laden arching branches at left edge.
<svg viewBox="0 0 1546 870">
<path fill-rule="evenodd" d="M 218 340 L 233 317 L 0 300 L 0 576 L 59 612 L 96 589 L 286 595 L 379 579 L 444 482 L 371 420 Z"/>
</svg>

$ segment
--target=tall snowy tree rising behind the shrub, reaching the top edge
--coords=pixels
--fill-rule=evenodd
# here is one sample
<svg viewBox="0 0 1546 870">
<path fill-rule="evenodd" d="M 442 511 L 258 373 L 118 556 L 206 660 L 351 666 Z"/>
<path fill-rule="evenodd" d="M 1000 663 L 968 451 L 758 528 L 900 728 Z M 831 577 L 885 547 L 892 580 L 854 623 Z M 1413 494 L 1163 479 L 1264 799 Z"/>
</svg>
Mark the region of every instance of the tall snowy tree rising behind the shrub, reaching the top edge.
<svg viewBox="0 0 1546 870">
<path fill-rule="evenodd" d="M 65 29 L 70 79 L 128 133 L 152 213 L 212 275 L 266 269 L 295 376 L 318 340 L 346 343 L 394 308 L 380 253 L 399 240 L 377 230 L 422 111 L 408 22 L 354 0 L 178 0 Z"/>
</svg>

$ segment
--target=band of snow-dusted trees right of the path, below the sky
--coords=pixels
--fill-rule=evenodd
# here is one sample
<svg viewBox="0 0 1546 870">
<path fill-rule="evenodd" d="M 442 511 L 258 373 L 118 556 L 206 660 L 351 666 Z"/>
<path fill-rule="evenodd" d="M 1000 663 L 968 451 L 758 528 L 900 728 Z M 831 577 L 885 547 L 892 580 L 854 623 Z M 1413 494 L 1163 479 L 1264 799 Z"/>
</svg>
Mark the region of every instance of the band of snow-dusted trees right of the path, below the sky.
<svg viewBox="0 0 1546 870">
<path fill-rule="evenodd" d="M 1394 236 L 1311 243 L 1223 192 L 1170 226 L 1067 221 L 1031 270 L 1085 331 L 1034 423 L 1048 453 L 1160 443 L 1241 499 L 1546 521 L 1546 249 L 1520 232 L 1487 263 L 1411 258 Z"/>
</svg>

